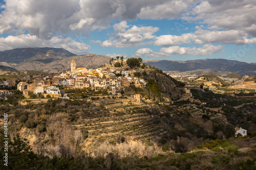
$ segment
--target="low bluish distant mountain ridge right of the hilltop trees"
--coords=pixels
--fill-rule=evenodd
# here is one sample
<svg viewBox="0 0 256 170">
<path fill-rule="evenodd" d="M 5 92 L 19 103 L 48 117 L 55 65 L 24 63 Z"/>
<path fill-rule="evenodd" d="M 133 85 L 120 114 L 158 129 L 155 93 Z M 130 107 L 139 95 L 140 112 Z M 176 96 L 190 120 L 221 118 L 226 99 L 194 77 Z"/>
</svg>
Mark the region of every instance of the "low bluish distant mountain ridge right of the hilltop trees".
<svg viewBox="0 0 256 170">
<path fill-rule="evenodd" d="M 202 59 L 202 60 L 144 60 L 145 64 L 150 64 L 163 71 L 192 71 L 197 69 L 212 69 L 224 72 L 233 72 L 234 74 L 244 76 L 254 76 L 256 74 L 256 65 L 225 59 Z"/>
</svg>

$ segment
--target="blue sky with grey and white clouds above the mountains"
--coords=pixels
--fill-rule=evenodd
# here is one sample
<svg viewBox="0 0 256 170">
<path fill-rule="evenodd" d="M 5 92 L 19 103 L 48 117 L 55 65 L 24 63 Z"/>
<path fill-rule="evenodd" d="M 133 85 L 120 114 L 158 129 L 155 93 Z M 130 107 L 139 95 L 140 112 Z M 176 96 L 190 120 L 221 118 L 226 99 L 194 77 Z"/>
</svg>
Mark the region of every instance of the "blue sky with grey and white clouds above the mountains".
<svg viewBox="0 0 256 170">
<path fill-rule="evenodd" d="M 0 51 L 256 62 L 255 0 L 0 0 Z"/>
</svg>

